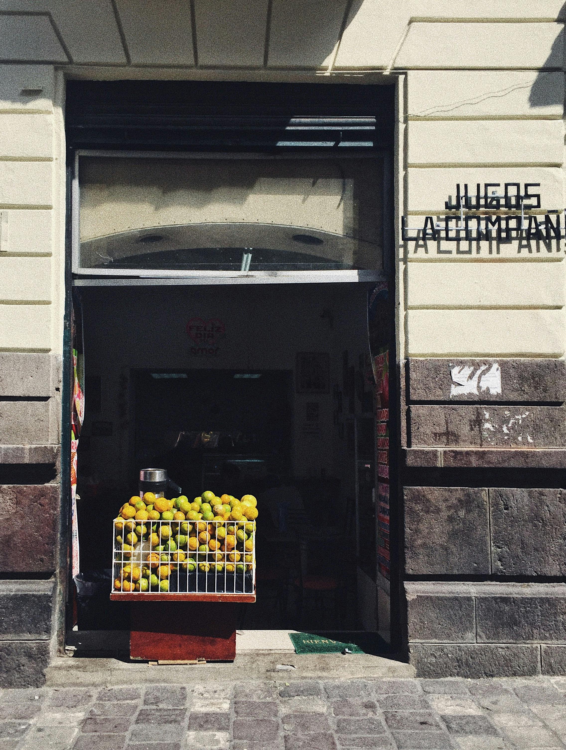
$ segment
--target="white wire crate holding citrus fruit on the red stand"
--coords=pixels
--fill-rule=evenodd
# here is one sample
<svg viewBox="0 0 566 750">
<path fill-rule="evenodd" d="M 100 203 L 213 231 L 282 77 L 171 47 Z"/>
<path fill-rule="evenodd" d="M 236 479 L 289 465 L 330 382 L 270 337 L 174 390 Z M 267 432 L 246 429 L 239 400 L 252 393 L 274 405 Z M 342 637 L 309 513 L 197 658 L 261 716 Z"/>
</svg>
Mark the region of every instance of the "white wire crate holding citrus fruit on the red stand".
<svg viewBox="0 0 566 750">
<path fill-rule="evenodd" d="M 255 595 L 255 521 L 116 518 L 112 532 L 112 598 Z"/>
</svg>

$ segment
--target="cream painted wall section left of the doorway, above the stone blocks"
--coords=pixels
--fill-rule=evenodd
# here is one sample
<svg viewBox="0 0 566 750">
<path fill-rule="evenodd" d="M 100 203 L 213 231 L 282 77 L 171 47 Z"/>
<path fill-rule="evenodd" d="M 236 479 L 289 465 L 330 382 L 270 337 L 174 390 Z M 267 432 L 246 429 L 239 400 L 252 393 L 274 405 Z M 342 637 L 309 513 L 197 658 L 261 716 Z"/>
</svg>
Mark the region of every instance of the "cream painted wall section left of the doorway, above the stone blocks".
<svg viewBox="0 0 566 750">
<path fill-rule="evenodd" d="M 0 351 L 62 350 L 61 83 L 52 66 L 0 66 Z"/>
</svg>

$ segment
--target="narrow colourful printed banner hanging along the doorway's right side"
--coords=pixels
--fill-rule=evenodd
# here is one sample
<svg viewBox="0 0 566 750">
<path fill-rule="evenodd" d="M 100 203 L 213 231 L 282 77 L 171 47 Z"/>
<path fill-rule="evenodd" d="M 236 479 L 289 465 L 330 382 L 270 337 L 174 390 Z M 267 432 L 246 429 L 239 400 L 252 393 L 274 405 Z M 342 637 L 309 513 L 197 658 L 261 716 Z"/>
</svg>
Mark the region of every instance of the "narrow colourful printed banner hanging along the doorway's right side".
<svg viewBox="0 0 566 750">
<path fill-rule="evenodd" d="M 382 281 L 367 298 L 367 332 L 376 381 L 377 562 L 389 579 L 389 307 L 388 284 Z"/>
</svg>

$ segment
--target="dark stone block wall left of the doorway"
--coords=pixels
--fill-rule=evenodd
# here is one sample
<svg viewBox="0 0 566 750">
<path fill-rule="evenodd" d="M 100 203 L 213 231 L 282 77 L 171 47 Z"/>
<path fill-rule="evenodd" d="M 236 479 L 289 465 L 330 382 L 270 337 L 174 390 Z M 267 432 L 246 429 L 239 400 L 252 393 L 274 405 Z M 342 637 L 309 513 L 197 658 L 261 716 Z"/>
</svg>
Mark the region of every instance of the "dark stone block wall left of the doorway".
<svg viewBox="0 0 566 750">
<path fill-rule="evenodd" d="M 0 352 L 2 686 L 40 685 L 55 648 L 60 362 L 50 354 Z"/>
</svg>

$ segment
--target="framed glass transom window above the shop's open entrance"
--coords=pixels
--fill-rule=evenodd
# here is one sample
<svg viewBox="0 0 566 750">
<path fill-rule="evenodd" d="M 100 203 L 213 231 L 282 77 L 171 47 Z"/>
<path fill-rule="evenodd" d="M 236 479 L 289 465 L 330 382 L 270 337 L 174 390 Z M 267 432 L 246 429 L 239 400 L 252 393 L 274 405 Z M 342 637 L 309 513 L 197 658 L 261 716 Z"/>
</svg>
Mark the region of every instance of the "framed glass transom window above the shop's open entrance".
<svg viewBox="0 0 566 750">
<path fill-rule="evenodd" d="M 380 269 L 380 157 L 79 155 L 78 273 Z"/>
</svg>

